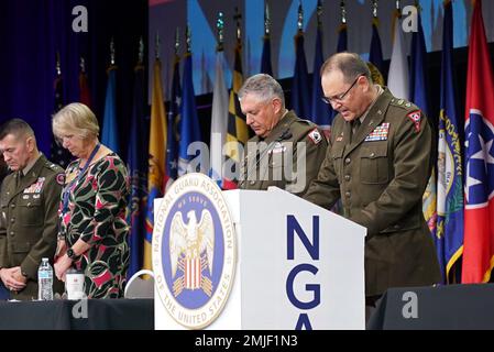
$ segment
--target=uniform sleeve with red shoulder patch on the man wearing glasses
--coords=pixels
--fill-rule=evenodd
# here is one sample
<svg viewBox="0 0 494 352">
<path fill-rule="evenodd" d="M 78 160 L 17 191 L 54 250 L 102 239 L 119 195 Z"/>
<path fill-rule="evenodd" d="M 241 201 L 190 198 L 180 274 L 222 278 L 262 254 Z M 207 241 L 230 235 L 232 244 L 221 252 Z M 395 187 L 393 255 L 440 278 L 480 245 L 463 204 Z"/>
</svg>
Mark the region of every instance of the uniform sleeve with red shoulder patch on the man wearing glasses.
<svg viewBox="0 0 494 352">
<path fill-rule="evenodd" d="M 408 113 L 397 129 L 393 141 L 394 178 L 375 201 L 350 218 L 367 228 L 370 235 L 389 228 L 421 204 L 430 176 L 432 136 L 421 112 L 418 119 L 417 114 Z"/>
</svg>

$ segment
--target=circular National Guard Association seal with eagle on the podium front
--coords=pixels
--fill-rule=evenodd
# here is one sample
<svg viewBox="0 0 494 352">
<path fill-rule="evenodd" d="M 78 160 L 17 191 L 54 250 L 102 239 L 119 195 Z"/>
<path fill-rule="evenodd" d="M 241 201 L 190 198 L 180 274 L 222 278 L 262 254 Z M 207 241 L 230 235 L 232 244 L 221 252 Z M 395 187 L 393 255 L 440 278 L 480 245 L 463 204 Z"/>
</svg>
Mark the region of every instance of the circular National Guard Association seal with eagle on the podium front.
<svg viewBox="0 0 494 352">
<path fill-rule="evenodd" d="M 233 221 L 221 189 L 187 174 L 155 209 L 153 271 L 160 299 L 189 329 L 212 323 L 223 309 L 237 264 Z"/>
</svg>

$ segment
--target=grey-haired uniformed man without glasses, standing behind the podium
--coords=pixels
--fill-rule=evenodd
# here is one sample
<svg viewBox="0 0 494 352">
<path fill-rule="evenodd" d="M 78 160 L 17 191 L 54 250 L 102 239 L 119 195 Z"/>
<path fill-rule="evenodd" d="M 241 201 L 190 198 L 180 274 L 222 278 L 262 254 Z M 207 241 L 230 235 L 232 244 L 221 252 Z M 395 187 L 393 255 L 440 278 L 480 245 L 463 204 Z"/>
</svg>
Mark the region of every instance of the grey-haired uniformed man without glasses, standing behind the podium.
<svg viewBox="0 0 494 352">
<path fill-rule="evenodd" d="M 328 142 L 322 132 L 285 108 L 282 86 L 270 75 L 245 80 L 239 100 L 246 124 L 255 133 L 244 150 L 239 187 L 276 186 L 304 195 L 325 160 Z"/>
</svg>

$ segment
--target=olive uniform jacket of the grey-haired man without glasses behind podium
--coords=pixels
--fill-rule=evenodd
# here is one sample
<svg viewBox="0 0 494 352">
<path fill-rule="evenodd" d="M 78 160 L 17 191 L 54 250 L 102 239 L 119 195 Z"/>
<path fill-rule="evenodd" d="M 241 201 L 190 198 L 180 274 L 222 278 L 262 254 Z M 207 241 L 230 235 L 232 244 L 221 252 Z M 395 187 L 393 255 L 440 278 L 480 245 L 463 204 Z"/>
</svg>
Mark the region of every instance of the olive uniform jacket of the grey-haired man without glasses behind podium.
<svg viewBox="0 0 494 352">
<path fill-rule="evenodd" d="M 316 178 L 327 148 L 328 142 L 319 128 L 289 111 L 266 139 L 254 136 L 246 143 L 240 188 L 261 190 L 276 186 L 303 195 Z"/>
</svg>

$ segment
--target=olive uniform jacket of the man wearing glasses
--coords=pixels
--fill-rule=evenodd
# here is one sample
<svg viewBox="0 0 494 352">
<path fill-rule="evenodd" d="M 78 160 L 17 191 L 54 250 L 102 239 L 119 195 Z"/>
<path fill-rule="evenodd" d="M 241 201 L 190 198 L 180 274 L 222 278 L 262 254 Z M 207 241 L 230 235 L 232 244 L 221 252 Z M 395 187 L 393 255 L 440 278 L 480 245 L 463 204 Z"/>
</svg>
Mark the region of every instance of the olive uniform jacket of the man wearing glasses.
<svg viewBox="0 0 494 352">
<path fill-rule="evenodd" d="M 430 176 L 431 130 L 413 103 L 386 88 L 350 142 L 351 123 L 337 116 L 330 147 L 306 198 L 367 229 L 365 294 L 440 280 L 431 234 L 422 215 Z"/>
</svg>

